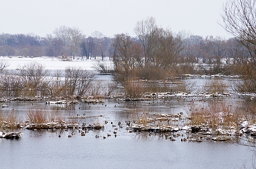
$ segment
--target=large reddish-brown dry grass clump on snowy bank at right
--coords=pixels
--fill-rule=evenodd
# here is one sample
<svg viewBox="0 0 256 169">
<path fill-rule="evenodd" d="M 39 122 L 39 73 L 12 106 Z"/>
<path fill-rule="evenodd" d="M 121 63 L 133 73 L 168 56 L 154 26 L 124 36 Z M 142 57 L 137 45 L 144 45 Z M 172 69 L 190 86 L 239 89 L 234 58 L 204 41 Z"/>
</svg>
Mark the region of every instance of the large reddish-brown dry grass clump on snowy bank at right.
<svg viewBox="0 0 256 169">
<path fill-rule="evenodd" d="M 192 125 L 206 124 L 214 130 L 238 129 L 243 117 L 236 107 L 227 102 L 209 103 L 209 105 L 192 104 L 190 113 Z"/>
</svg>

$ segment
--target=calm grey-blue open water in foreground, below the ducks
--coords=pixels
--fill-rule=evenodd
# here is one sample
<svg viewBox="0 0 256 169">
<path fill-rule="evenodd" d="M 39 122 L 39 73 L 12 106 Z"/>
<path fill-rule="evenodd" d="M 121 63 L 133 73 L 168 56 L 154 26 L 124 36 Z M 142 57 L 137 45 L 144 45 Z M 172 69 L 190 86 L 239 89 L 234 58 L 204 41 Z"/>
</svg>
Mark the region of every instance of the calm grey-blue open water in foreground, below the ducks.
<svg viewBox="0 0 256 169">
<path fill-rule="evenodd" d="M 25 130 L 20 140 L 0 140 L 0 168 L 234 169 L 252 163 L 251 151 L 230 143 L 94 135 L 59 138 L 58 133 Z"/>
</svg>

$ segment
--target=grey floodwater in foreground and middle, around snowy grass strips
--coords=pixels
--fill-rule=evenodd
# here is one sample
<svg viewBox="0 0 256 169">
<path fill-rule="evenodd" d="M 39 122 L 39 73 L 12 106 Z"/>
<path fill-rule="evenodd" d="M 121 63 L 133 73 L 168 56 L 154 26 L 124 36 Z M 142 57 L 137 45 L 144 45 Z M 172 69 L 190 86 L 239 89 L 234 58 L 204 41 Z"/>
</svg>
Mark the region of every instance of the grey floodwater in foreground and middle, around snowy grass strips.
<svg viewBox="0 0 256 169">
<path fill-rule="evenodd" d="M 233 101 L 234 98 L 228 96 L 222 99 Z M 181 137 L 170 141 L 160 135 L 130 133 L 126 129 L 125 121 L 136 120 L 143 113 L 186 114 L 192 101 L 202 99 L 207 101 L 208 98 L 172 97 L 136 102 L 106 99 L 103 104 L 80 102 L 76 105 L 45 104 L 44 100 L 7 102 L 9 107 L 0 108 L 2 113 L 14 109 L 14 113 L 18 113 L 24 121 L 29 108 L 41 108 L 63 114 L 66 121 L 70 120 L 68 117 L 77 117 L 80 124 L 108 123 L 104 130 L 89 130 L 85 136 L 81 136 L 78 130 L 23 130 L 23 137 L 18 140 L 0 139 L 0 169 L 252 168 L 253 152 L 246 146 L 212 140 L 181 142 Z M 114 130 L 116 127 L 111 122 L 118 126 L 119 121 L 123 128 Z M 114 137 L 114 131 L 117 137 Z M 75 134 L 68 138 L 72 132 Z M 186 134 L 186 131 L 181 132 Z M 107 137 L 108 133 L 111 136 Z"/>
</svg>

